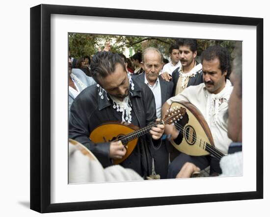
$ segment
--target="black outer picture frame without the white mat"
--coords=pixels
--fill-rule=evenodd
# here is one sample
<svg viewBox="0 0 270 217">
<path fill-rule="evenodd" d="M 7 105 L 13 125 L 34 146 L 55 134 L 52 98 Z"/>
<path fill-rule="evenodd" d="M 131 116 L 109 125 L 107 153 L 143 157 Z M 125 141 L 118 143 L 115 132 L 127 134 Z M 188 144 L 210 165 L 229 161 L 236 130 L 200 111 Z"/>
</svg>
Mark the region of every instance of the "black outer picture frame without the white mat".
<svg viewBox="0 0 270 217">
<path fill-rule="evenodd" d="M 51 203 L 51 15 L 256 26 L 256 191 Z M 139 15 L 139 16 L 138 16 Z M 40 213 L 263 198 L 263 19 L 41 4 L 30 9 L 30 209 Z"/>
</svg>

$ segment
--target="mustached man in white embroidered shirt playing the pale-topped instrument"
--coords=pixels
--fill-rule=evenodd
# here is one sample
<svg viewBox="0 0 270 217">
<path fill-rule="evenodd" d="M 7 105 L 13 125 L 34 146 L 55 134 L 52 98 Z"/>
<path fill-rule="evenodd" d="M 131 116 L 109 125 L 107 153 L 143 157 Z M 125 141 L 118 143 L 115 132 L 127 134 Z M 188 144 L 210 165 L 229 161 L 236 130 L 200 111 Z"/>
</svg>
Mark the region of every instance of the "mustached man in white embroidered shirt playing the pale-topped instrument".
<svg viewBox="0 0 270 217">
<path fill-rule="evenodd" d="M 223 120 L 233 89 L 227 79 L 231 72 L 229 59 L 226 48 L 207 48 L 201 56 L 204 83 L 186 88 L 181 94 L 168 99 L 162 107 L 162 117 L 173 101 L 188 101 L 197 107 L 210 127 L 216 148 L 224 154 L 232 142 L 227 136 L 227 123 Z M 165 125 L 165 133 L 171 135 L 172 139 L 179 135 L 173 125 Z M 175 178 L 186 162 L 193 163 L 200 169 L 210 166 L 210 175 L 221 173 L 219 161 L 213 156 L 189 156 L 179 153 L 169 165 L 168 178 Z"/>
</svg>

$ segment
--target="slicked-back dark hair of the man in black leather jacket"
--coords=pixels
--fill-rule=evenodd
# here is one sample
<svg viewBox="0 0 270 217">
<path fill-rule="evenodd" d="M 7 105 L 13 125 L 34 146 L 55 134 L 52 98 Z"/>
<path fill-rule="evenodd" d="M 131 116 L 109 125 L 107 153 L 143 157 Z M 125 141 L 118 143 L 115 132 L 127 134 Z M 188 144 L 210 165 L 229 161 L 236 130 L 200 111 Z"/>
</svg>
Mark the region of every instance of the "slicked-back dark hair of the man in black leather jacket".
<svg viewBox="0 0 270 217">
<path fill-rule="evenodd" d="M 120 64 L 126 72 L 124 60 L 119 54 L 109 51 L 97 52 L 90 64 L 90 75 L 99 83 L 100 79 L 115 71 L 116 64 Z"/>
</svg>

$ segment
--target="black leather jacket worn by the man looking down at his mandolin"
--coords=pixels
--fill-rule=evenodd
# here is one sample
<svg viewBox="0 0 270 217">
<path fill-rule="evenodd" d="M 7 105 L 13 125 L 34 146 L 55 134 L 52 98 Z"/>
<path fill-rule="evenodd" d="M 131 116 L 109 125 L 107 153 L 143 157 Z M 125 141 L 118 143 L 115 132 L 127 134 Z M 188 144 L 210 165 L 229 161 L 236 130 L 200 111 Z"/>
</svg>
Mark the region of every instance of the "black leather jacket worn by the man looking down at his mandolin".
<svg viewBox="0 0 270 217">
<path fill-rule="evenodd" d="M 144 83 L 138 83 L 133 79 L 134 90 L 131 90 L 130 97 L 132 102 L 132 109 L 135 112 L 139 127 L 144 127 L 156 120 L 156 104 L 152 91 Z M 103 167 L 112 165 L 109 158 L 109 143 L 94 144 L 89 135 L 98 125 L 108 121 L 115 120 L 113 116 L 113 108 L 111 102 L 105 96 L 104 99 L 98 95 L 98 87 L 92 85 L 84 89 L 79 96 L 77 96 L 71 106 L 69 119 L 69 138 L 85 145 L 98 158 Z M 133 118 L 134 119 L 134 118 Z M 146 136 L 146 141 L 153 143 L 150 134 Z M 149 175 L 152 169 L 151 154 L 149 152 L 149 145 L 145 143 L 146 138 L 141 138 L 136 146 L 140 146 L 137 157 L 141 159 L 143 173 L 141 176 Z M 147 142 L 147 144 L 148 144 Z M 158 140 L 157 142 L 160 142 Z M 156 143 L 156 142 L 154 142 Z M 134 151 L 136 151 L 134 149 Z M 127 158 L 125 161 L 127 161 Z M 124 161 L 124 162 L 125 162 Z M 136 163 L 136 162 L 133 162 Z M 124 166 L 125 167 L 125 166 Z M 136 169 L 135 169 L 136 170 Z"/>
</svg>

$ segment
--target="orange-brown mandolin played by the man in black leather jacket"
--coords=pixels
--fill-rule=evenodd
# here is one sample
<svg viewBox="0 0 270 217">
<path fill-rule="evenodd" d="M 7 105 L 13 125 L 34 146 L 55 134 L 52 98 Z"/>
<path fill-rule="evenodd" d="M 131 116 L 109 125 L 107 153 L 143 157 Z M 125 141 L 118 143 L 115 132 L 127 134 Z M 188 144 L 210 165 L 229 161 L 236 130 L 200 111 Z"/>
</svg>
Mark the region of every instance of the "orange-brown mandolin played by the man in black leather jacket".
<svg viewBox="0 0 270 217">
<path fill-rule="evenodd" d="M 122 159 L 113 160 L 113 164 L 120 164 L 130 156 L 135 146 L 137 145 L 137 140 L 140 136 L 145 135 L 152 129 L 152 127 L 158 124 L 171 124 L 177 120 L 182 119 L 185 113 L 185 108 L 178 106 L 174 107 L 170 109 L 170 112 L 165 116 L 163 120 L 143 128 L 139 128 L 127 122 L 107 122 L 97 126 L 90 133 L 89 138 L 95 144 L 121 141 L 127 149 L 127 152 Z"/>
</svg>

